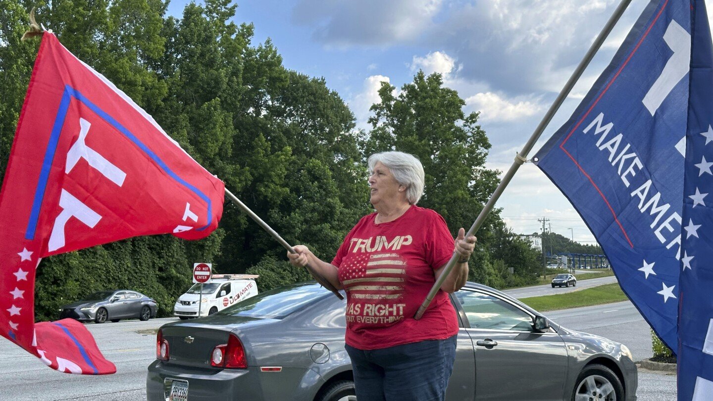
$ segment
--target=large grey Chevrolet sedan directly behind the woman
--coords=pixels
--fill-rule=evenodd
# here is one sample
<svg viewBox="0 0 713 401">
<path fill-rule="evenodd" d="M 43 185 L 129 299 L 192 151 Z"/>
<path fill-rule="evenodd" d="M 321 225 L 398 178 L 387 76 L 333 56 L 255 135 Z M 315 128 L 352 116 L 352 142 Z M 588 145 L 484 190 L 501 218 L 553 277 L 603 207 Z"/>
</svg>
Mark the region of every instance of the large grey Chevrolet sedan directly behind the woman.
<svg viewBox="0 0 713 401">
<path fill-rule="evenodd" d="M 468 283 L 451 302 L 461 330 L 447 400 L 636 400 L 625 345 L 565 329 L 484 285 Z M 354 400 L 345 306 L 297 283 L 163 325 L 148 401 Z"/>
</svg>

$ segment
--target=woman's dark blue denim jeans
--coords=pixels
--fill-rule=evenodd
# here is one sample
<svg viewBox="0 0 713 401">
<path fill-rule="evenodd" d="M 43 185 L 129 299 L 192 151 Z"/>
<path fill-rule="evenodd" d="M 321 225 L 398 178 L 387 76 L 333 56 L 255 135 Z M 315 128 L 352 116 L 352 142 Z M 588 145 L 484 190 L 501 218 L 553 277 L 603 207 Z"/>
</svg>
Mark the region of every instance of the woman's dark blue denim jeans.
<svg viewBox="0 0 713 401">
<path fill-rule="evenodd" d="M 456 360 L 456 337 L 359 350 L 349 345 L 359 401 L 443 401 Z"/>
</svg>

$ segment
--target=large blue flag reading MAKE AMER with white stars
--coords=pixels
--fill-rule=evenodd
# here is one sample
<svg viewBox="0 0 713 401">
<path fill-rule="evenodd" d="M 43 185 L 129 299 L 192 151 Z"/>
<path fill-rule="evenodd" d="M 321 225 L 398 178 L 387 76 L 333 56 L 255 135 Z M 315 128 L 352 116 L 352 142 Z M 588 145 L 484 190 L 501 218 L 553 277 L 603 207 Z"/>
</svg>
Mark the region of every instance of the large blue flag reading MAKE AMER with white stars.
<svg viewBox="0 0 713 401">
<path fill-rule="evenodd" d="M 679 400 L 713 400 L 712 126 L 704 1 L 652 0 L 535 155 L 677 353 Z"/>
</svg>

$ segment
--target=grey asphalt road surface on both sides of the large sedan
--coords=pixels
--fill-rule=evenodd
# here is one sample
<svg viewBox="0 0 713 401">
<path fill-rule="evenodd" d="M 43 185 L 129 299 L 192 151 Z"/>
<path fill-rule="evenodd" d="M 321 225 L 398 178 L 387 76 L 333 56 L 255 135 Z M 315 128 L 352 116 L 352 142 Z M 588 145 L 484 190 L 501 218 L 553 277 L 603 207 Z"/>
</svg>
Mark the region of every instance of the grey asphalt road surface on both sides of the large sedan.
<svg viewBox="0 0 713 401">
<path fill-rule="evenodd" d="M 580 288 L 580 285 L 577 288 Z M 508 292 L 521 290 L 537 289 Z M 554 290 L 556 292 L 560 289 Z M 632 350 L 635 360 L 652 356 L 649 326 L 629 302 L 559 310 L 546 315 L 567 328 L 602 335 L 624 343 Z M 153 330 L 173 320 L 176 319 L 86 325 L 103 354 L 116 364 L 117 373 L 109 376 L 67 375 L 56 372 L 11 342 L 2 340 L 0 382 L 3 385 L 0 399 L 143 401 L 146 399 L 146 367 L 153 362 L 155 355 Z M 642 370 L 639 373 L 637 395 L 639 400 L 675 400 L 676 376 Z"/>
</svg>

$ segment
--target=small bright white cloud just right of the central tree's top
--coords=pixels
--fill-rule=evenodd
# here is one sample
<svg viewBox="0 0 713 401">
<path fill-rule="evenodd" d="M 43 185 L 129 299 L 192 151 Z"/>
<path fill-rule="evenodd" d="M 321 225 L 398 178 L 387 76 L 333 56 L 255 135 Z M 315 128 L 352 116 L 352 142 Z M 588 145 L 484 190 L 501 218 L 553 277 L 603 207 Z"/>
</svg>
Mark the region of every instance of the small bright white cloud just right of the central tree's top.
<svg viewBox="0 0 713 401">
<path fill-rule="evenodd" d="M 537 101 L 511 100 L 493 92 L 476 93 L 466 98 L 469 108 L 481 112 L 481 121 L 513 121 L 534 116 L 544 107 Z"/>
</svg>

